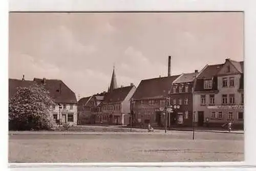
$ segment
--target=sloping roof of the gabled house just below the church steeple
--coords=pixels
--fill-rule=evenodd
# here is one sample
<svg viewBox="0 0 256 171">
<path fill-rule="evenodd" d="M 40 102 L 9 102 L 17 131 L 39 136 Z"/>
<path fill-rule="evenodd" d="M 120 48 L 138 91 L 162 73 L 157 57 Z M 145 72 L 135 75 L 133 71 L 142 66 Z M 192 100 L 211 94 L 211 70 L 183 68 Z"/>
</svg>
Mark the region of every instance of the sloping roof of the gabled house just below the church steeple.
<svg viewBox="0 0 256 171">
<path fill-rule="evenodd" d="M 105 94 L 102 103 L 121 102 L 134 86 L 121 87 Z"/>
</svg>

